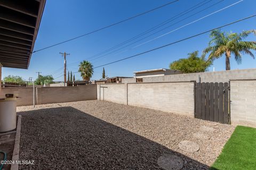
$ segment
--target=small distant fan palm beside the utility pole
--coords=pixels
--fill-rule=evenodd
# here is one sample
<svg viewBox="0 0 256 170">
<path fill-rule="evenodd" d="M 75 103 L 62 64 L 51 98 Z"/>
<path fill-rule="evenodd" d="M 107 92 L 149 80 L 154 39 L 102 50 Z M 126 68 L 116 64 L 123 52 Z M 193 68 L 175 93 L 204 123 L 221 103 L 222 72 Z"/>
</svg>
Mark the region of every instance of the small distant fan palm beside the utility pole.
<svg viewBox="0 0 256 170">
<path fill-rule="evenodd" d="M 79 64 L 78 72 L 81 73 L 84 81 L 90 81 L 93 74 L 93 65 L 89 61 L 84 60 Z"/>
</svg>

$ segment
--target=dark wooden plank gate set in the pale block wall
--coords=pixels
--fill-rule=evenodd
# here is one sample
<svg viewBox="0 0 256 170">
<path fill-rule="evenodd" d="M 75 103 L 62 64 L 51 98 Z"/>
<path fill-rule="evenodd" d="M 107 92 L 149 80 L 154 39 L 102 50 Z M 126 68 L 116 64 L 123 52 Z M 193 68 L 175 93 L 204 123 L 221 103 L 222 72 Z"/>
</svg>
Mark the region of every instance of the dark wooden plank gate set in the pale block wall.
<svg viewBox="0 0 256 170">
<path fill-rule="evenodd" d="M 195 117 L 228 124 L 230 111 L 229 84 L 196 83 Z"/>
</svg>

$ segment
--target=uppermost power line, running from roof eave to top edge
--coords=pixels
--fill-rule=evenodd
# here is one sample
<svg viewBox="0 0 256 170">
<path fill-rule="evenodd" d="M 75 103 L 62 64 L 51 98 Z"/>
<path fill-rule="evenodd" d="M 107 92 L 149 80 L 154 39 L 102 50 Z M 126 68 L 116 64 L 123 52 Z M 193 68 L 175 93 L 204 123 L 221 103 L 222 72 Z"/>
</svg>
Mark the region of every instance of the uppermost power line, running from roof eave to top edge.
<svg viewBox="0 0 256 170">
<path fill-rule="evenodd" d="M 57 45 L 60 45 L 60 44 L 63 44 L 63 43 L 67 43 L 68 41 L 71 41 L 71 40 L 74 40 L 74 39 L 77 39 L 77 38 L 81 38 L 81 37 L 90 35 L 91 33 L 98 32 L 98 31 L 100 31 L 100 30 L 103 30 L 103 29 L 112 27 L 112 26 L 117 25 L 117 24 L 119 24 L 119 23 L 122 23 L 122 22 L 125 22 L 125 21 L 128 21 L 128 20 L 137 18 L 138 16 L 144 15 L 144 14 L 149 13 L 149 12 L 152 12 L 152 11 L 155 11 L 155 10 L 157 10 L 157 9 L 159 9 L 159 8 L 162 8 L 162 7 L 164 7 L 164 6 L 170 5 L 170 4 L 175 3 L 175 2 L 178 2 L 178 1 L 179 1 L 179 0 L 171 1 L 171 2 L 169 2 L 169 3 L 167 3 L 167 4 L 158 6 L 158 7 L 156 7 L 156 8 L 151 9 L 151 10 L 148 10 L 148 11 L 146 11 L 146 12 L 143 12 L 143 13 L 140 13 L 140 14 L 137 14 L 137 15 L 134 15 L 134 16 L 131 16 L 130 18 L 127 18 L 127 19 L 124 19 L 124 20 L 122 20 L 122 21 L 118 21 L 118 22 L 116 22 L 116 23 L 107 25 L 106 27 L 102 27 L 102 28 L 100 28 L 100 29 L 97 29 L 97 30 L 94 30 L 94 31 L 91 31 L 91 32 L 87 32 L 87 33 L 85 33 L 84 35 L 77 36 L 77 37 L 74 37 L 74 38 L 71 38 L 71 39 L 62 41 L 62 42 L 60 42 L 60 43 L 57 43 L 57 44 L 54 44 L 54 45 L 51 45 L 51 46 L 48 46 L 48 47 L 45 47 L 45 48 L 41 48 L 41 49 L 35 50 L 35 51 L 32 52 L 32 53 L 36 53 L 36 52 L 39 52 L 39 51 L 44 50 L 44 49 L 47 49 L 47 48 L 51 48 L 51 47 L 54 47 L 54 46 L 57 46 Z"/>
</svg>

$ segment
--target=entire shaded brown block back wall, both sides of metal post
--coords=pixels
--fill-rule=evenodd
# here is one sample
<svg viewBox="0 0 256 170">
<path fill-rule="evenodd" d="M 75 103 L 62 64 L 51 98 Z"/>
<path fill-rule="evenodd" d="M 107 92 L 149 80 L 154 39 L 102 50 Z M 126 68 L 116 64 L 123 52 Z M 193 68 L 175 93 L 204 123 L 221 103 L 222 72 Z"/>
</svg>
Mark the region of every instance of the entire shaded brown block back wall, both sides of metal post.
<svg viewBox="0 0 256 170">
<path fill-rule="evenodd" d="M 17 94 L 17 106 L 33 105 L 33 87 L 2 88 L 1 97 L 5 94 Z M 78 87 L 42 87 L 35 88 L 35 104 L 63 103 L 70 101 L 97 99 L 97 85 L 89 84 Z"/>
</svg>

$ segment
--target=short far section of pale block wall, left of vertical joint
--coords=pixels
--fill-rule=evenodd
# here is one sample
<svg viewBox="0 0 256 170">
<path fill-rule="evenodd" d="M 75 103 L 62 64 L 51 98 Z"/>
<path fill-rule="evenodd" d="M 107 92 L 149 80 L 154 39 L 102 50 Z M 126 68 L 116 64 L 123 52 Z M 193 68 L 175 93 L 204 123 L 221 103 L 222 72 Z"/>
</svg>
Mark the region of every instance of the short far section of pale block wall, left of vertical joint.
<svg viewBox="0 0 256 170">
<path fill-rule="evenodd" d="M 127 84 L 97 84 L 98 100 L 107 100 L 119 104 L 127 104 Z"/>
</svg>

